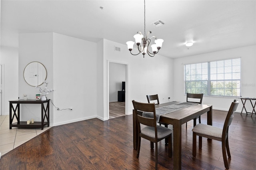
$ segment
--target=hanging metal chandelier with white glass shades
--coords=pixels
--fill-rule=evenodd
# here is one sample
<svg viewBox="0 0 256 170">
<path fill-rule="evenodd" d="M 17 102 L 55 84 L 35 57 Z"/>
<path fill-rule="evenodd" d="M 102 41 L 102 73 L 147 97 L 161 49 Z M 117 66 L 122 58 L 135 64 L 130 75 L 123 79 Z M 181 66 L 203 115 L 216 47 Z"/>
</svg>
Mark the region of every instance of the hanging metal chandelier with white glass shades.
<svg viewBox="0 0 256 170">
<path fill-rule="evenodd" d="M 151 38 L 148 38 L 148 35 L 151 34 L 151 31 L 148 31 L 148 33 L 146 34 L 146 12 L 145 11 L 146 11 L 146 5 L 145 5 L 145 0 L 144 0 L 144 35 L 139 31 L 139 32 L 137 32 L 136 35 L 133 36 L 135 38 L 136 44 L 138 45 L 139 53 L 143 54 L 143 58 L 146 53 L 148 53 L 148 55 L 150 57 L 154 57 L 155 54 L 158 53 L 159 49 L 162 47 L 162 43 L 164 42 L 163 39 L 156 39 L 156 36 L 152 36 L 151 38 L 154 38 L 155 41 L 154 41 L 154 44 L 150 45 Z M 142 44 L 141 44 L 141 42 L 142 42 Z M 137 54 L 132 53 L 132 48 L 133 48 L 134 42 L 129 41 L 129 42 L 126 42 L 126 44 L 127 44 L 128 49 L 132 55 L 139 54 L 139 53 L 137 53 Z M 148 51 L 149 45 L 152 47 L 152 53 L 150 53 Z"/>
</svg>

